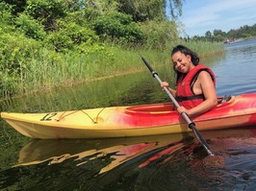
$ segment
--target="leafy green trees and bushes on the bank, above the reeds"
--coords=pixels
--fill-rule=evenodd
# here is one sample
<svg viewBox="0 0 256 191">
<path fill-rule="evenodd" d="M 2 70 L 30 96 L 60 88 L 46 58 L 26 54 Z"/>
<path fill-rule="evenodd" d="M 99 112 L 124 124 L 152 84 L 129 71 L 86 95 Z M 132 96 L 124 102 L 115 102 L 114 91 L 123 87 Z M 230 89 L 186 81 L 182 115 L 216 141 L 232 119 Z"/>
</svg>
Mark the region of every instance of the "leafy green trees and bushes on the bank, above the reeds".
<svg viewBox="0 0 256 191">
<path fill-rule="evenodd" d="M 63 58 L 104 51 L 111 56 L 106 44 L 164 48 L 178 38 L 174 19 L 181 8 L 182 0 L 2 0 L 1 93 L 12 94 L 32 62 L 44 64 L 45 52 Z"/>
</svg>

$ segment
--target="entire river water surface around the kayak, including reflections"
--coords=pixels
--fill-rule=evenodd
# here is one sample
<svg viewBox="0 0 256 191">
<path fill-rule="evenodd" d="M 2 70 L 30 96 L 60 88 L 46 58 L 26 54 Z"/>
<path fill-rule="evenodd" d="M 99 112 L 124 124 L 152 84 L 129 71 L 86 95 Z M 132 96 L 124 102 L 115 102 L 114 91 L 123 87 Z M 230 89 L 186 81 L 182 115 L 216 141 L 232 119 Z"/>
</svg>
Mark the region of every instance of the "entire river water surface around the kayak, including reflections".
<svg viewBox="0 0 256 191">
<path fill-rule="evenodd" d="M 203 60 L 218 95 L 256 92 L 256 39 L 225 45 Z M 142 63 L 141 63 L 142 64 Z M 173 82 L 171 67 L 158 69 Z M 148 71 L 1 102 L 8 111 L 54 111 L 168 102 Z M 256 129 L 202 131 L 215 156 L 192 133 L 112 138 L 30 139 L 0 121 L 0 190 L 255 190 Z"/>
</svg>

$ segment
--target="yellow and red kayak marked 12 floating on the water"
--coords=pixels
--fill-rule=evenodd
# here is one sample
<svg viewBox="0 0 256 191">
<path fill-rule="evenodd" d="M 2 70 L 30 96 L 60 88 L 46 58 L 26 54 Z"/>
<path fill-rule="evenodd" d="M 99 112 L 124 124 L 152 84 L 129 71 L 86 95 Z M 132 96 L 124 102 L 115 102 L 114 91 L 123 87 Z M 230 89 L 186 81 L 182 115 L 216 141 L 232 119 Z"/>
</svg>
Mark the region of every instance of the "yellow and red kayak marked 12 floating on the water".
<svg viewBox="0 0 256 191">
<path fill-rule="evenodd" d="M 198 131 L 256 124 L 256 93 L 225 98 L 218 98 L 217 107 L 191 117 Z M 1 112 L 1 118 L 23 135 L 40 139 L 107 138 L 192 131 L 172 103 L 47 113 Z"/>
</svg>

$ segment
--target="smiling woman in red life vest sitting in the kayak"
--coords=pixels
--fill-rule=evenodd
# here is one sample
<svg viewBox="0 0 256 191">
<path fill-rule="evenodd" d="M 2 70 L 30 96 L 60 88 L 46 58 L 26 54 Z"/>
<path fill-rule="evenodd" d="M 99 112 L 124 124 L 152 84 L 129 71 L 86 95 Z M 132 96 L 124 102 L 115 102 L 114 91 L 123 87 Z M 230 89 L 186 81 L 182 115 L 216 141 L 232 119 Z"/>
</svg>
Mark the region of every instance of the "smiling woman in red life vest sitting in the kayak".
<svg viewBox="0 0 256 191">
<path fill-rule="evenodd" d="M 166 86 L 179 103 L 178 112 L 186 112 L 192 116 L 216 107 L 218 99 L 215 75 L 210 68 L 199 63 L 197 54 L 178 45 L 171 52 L 171 60 L 177 74 L 177 89 L 168 87 L 166 82 L 161 86 Z"/>
</svg>

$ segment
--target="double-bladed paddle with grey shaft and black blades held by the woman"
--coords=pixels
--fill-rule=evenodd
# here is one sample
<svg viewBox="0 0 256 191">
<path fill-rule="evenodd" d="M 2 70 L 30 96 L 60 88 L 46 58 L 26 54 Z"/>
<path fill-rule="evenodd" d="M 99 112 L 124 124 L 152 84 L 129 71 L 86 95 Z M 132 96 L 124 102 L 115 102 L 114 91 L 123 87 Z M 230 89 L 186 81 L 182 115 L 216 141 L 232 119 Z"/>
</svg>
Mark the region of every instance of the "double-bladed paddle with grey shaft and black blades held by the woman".
<svg viewBox="0 0 256 191">
<path fill-rule="evenodd" d="M 150 70 L 150 72 L 152 73 L 153 77 L 157 79 L 157 81 L 162 84 L 161 79 L 158 77 L 158 74 L 153 70 L 153 68 L 150 66 L 150 64 L 147 62 L 147 60 L 145 60 L 144 58 L 141 57 L 141 59 L 143 60 L 143 62 L 146 64 L 147 68 Z M 164 86 L 164 89 L 166 91 L 166 93 L 168 94 L 168 96 L 170 97 L 171 101 L 173 102 L 173 104 L 175 105 L 175 107 L 180 107 L 178 102 L 175 100 L 175 98 L 172 96 L 172 94 L 169 92 L 169 89 Z M 183 118 L 186 120 L 186 122 L 189 124 L 189 128 L 192 129 L 193 133 L 195 134 L 196 138 L 199 140 L 199 142 L 201 143 L 201 145 L 204 147 L 204 149 L 206 150 L 206 152 L 208 153 L 208 155 L 214 155 L 211 151 L 210 151 L 210 147 L 207 144 L 206 140 L 202 137 L 202 135 L 200 134 L 200 132 L 196 129 L 195 124 L 192 122 L 192 120 L 189 118 L 189 116 L 187 115 L 186 112 L 182 112 L 181 115 L 183 116 Z"/>
</svg>

